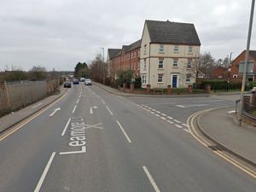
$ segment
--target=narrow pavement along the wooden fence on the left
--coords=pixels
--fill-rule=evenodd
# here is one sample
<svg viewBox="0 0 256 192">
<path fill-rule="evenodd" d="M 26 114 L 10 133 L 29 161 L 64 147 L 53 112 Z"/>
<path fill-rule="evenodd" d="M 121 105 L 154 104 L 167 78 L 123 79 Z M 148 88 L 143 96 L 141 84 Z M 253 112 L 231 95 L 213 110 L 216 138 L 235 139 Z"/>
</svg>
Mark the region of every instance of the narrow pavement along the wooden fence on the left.
<svg viewBox="0 0 256 192">
<path fill-rule="evenodd" d="M 67 89 L 61 87 L 60 92 L 56 93 L 55 95 L 47 96 L 43 100 L 26 106 L 26 108 L 21 108 L 19 111 L 15 111 L 3 116 L 2 118 L 0 118 L 0 133 L 8 130 L 10 127 L 26 119 L 32 114 L 37 113 L 40 109 L 45 108 L 50 103 L 55 102 L 55 100 L 63 96 L 66 92 Z"/>
</svg>

